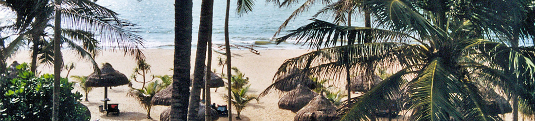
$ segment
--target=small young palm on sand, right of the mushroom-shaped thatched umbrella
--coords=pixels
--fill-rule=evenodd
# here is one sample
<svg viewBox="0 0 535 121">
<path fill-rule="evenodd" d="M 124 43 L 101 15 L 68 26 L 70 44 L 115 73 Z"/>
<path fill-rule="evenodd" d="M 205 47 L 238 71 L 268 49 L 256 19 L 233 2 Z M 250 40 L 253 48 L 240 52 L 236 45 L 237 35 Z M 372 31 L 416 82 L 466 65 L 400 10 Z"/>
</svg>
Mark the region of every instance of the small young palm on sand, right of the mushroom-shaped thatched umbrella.
<svg viewBox="0 0 535 121">
<path fill-rule="evenodd" d="M 152 103 L 150 103 L 150 100 L 152 97 L 161 91 L 164 87 L 161 83 L 156 80 L 155 82 L 151 82 L 147 85 L 147 87 L 144 87 L 143 89 L 137 89 L 137 88 L 131 88 L 131 90 L 127 93 L 128 96 L 137 99 L 141 106 L 147 110 L 147 119 L 152 119 L 150 117 L 150 109 L 152 108 Z"/>
</svg>

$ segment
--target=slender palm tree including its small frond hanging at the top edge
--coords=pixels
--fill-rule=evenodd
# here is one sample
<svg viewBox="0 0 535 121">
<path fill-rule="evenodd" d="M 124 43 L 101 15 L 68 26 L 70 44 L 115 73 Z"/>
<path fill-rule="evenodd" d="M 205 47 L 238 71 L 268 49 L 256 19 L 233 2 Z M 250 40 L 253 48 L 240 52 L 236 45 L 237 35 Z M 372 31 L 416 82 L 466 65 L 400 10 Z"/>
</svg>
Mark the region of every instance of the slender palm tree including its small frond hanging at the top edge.
<svg viewBox="0 0 535 121">
<path fill-rule="evenodd" d="M 238 14 L 243 14 L 243 13 L 248 13 L 250 11 L 253 11 L 253 5 L 254 5 L 254 0 L 238 0 L 238 6 L 236 8 L 236 12 L 238 12 Z M 225 50 L 226 50 L 226 64 L 227 64 L 227 78 L 232 78 L 232 69 L 229 68 L 229 67 L 232 67 L 232 64 L 231 64 L 231 45 L 230 45 L 230 40 L 228 38 L 228 14 L 229 14 L 229 11 L 230 11 L 230 7 L 231 7 L 231 0 L 227 0 L 227 6 L 226 6 L 226 10 L 225 10 L 225 27 L 224 27 L 224 31 L 225 31 Z M 227 80 L 227 84 L 228 84 L 228 88 L 232 88 L 231 87 L 231 79 L 228 79 Z M 231 94 L 231 90 L 228 90 L 228 95 L 232 95 Z M 230 96 L 229 96 L 230 97 Z M 232 113 L 232 107 L 231 106 L 231 98 L 228 98 L 228 112 L 231 112 Z M 232 121 L 232 115 L 228 115 L 228 120 Z"/>
</svg>

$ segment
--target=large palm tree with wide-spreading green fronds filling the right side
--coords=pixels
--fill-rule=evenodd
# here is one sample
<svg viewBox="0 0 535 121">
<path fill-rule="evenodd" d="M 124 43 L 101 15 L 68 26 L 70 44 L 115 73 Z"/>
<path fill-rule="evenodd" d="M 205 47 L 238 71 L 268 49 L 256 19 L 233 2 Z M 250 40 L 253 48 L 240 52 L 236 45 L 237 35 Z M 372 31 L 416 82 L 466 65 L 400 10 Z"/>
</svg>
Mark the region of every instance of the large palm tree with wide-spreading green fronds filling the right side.
<svg viewBox="0 0 535 121">
<path fill-rule="evenodd" d="M 515 12 L 496 9 L 494 5 L 517 9 L 516 1 L 431 2 L 434 1 L 366 2 L 364 8 L 378 18 L 376 22 L 383 29 L 314 20 L 293 30 L 278 38 L 278 42 L 297 38 L 310 42 L 311 47 L 329 48 L 286 60 L 276 77 L 299 68 L 311 75 L 339 80 L 347 64 L 351 70 L 362 70 L 368 65 L 402 68 L 369 92 L 352 99 L 356 103 L 342 107 L 340 120 L 373 118 L 369 110 L 378 108 L 373 102 L 391 98 L 402 85 L 407 85 L 409 98 L 415 102 L 410 108 L 413 120 L 499 120 L 499 116 L 480 108 L 484 101 L 477 84 L 496 86 L 509 98 L 517 94 L 529 103 L 526 106 L 535 106 L 530 86 L 535 67 L 530 63 L 535 47 L 509 47 L 491 42 L 497 39 L 496 35 L 507 35 L 512 23 L 511 19 L 501 19 L 507 18 L 505 15 L 493 11 Z M 366 37 L 349 38 L 365 32 L 371 33 L 375 43 L 359 43 Z M 348 41 L 337 42 L 345 39 Z M 342 46 L 335 46 L 338 44 Z M 505 71 L 517 75 L 517 79 L 506 76 Z M 416 77 L 405 82 L 403 78 L 409 75 Z M 524 84 L 516 83 L 518 80 Z"/>
</svg>

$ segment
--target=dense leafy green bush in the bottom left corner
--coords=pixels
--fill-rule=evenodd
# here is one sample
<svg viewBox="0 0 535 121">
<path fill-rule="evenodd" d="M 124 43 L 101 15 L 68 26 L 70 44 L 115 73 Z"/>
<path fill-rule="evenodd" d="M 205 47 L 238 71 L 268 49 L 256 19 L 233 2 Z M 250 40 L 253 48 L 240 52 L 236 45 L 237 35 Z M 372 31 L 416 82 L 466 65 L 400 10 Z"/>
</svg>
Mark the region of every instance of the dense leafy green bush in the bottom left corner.
<svg viewBox="0 0 535 121">
<path fill-rule="evenodd" d="M 54 75 L 35 77 L 28 64 L 17 67 L 17 78 L 0 79 L 0 120 L 51 120 Z M 59 120 L 89 120 L 90 114 L 79 92 L 72 93 L 72 83 L 62 78 L 60 84 Z"/>
</svg>

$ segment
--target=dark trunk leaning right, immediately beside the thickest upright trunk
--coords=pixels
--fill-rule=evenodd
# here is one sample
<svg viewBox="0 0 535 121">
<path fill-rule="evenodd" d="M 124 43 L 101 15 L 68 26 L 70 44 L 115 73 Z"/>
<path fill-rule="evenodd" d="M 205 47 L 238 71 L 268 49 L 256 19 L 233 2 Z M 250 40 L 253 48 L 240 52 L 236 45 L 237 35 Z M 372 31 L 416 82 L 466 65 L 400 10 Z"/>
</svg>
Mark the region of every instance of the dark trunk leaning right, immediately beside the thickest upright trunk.
<svg viewBox="0 0 535 121">
<path fill-rule="evenodd" d="M 201 3 L 201 18 L 198 31 L 197 52 L 195 55 L 195 69 L 193 72 L 192 91 L 189 95 L 188 120 L 197 119 L 197 112 L 201 98 L 201 88 L 205 71 L 206 45 L 212 38 L 212 9 L 213 0 L 203 0 Z M 208 79 L 206 79 L 208 81 Z M 206 105 L 208 107 L 208 105 Z"/>
</svg>

